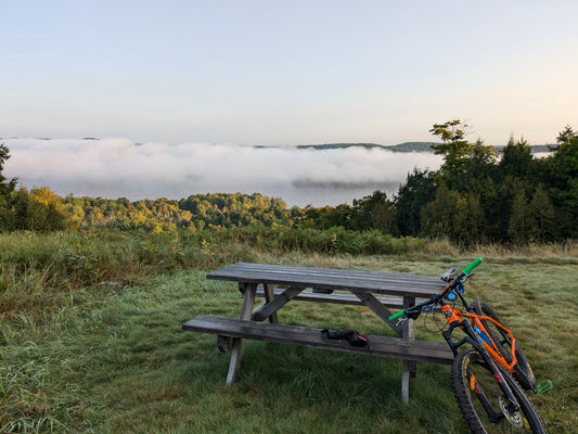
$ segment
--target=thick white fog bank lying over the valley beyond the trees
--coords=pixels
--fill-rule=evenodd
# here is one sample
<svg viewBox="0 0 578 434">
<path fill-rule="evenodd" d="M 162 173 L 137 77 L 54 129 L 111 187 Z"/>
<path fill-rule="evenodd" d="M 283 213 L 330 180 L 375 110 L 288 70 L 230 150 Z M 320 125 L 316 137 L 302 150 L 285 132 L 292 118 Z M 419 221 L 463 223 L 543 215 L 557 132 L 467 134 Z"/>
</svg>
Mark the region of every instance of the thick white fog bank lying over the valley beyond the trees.
<svg viewBox="0 0 578 434">
<path fill-rule="evenodd" d="M 4 176 L 59 195 L 181 199 L 196 193 L 262 193 L 288 206 L 351 203 L 374 190 L 389 196 L 413 167 L 437 169 L 431 153 L 381 149 L 313 150 L 126 139 L 5 139 Z"/>
</svg>

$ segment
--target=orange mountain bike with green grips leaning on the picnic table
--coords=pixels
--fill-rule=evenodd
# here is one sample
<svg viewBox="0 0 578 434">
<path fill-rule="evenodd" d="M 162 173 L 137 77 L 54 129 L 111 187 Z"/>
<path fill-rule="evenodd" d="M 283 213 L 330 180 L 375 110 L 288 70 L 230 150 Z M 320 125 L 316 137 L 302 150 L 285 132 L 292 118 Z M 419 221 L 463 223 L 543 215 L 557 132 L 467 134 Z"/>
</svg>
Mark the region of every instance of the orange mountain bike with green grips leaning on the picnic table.
<svg viewBox="0 0 578 434">
<path fill-rule="evenodd" d="M 389 317 L 402 322 L 421 314 L 441 310 L 447 322 L 444 339 L 453 352 L 451 384 L 458 407 L 472 433 L 545 433 L 542 421 L 524 390 L 545 392 L 548 382 L 536 376 L 513 333 L 481 301 L 464 297 L 464 283 L 483 261 L 477 258 L 455 276 L 441 275 L 447 286 L 428 301 Z M 458 299 L 463 307 L 458 308 Z M 454 336 L 460 330 L 464 335 Z M 464 346 L 467 345 L 467 346 Z"/>
</svg>

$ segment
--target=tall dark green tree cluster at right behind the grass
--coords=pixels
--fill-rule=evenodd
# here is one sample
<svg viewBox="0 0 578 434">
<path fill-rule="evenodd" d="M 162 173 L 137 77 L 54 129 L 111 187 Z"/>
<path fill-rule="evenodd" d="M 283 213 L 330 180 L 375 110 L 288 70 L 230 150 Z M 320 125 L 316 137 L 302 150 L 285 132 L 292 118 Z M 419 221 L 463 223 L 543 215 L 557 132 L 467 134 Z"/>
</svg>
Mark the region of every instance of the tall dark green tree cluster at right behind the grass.
<svg viewBox="0 0 578 434">
<path fill-rule="evenodd" d="M 473 243 L 557 242 L 578 237 L 578 137 L 558 135 L 551 155 L 535 157 L 524 140 L 500 150 L 465 139 L 460 120 L 436 124 L 439 170 L 413 169 L 395 197 L 383 192 L 310 210 L 314 226 L 378 229 L 395 235 Z"/>
</svg>

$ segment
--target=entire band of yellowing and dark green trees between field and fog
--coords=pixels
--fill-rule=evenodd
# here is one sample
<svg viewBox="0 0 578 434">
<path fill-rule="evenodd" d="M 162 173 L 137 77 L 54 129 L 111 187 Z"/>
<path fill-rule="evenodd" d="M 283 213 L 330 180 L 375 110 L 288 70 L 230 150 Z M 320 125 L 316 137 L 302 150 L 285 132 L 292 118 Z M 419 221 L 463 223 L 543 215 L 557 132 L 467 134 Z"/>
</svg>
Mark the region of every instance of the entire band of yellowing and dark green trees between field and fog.
<svg viewBox="0 0 578 434">
<path fill-rule="evenodd" d="M 130 202 L 60 197 L 48 188 L 15 190 L 1 175 L 9 157 L 0 145 L 0 230 L 114 228 L 167 232 L 183 229 L 339 229 L 394 237 L 444 238 L 473 243 L 558 242 L 578 238 L 578 137 L 567 126 L 547 157 L 523 139 L 500 150 L 465 139 L 460 120 L 436 124 L 432 146 L 439 170 L 414 168 L 394 197 L 374 193 L 335 207 L 292 207 L 278 197 L 195 194 Z"/>
</svg>

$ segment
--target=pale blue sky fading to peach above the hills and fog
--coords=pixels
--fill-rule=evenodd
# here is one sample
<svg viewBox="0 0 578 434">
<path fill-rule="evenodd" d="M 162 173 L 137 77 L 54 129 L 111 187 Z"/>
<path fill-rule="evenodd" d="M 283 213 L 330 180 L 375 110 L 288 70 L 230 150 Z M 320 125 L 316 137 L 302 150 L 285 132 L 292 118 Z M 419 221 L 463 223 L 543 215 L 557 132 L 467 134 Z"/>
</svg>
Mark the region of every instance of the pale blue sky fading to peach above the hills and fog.
<svg viewBox="0 0 578 434">
<path fill-rule="evenodd" d="M 553 142 L 578 1 L 0 0 L 0 137 Z"/>
</svg>

